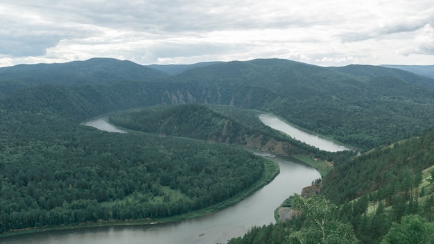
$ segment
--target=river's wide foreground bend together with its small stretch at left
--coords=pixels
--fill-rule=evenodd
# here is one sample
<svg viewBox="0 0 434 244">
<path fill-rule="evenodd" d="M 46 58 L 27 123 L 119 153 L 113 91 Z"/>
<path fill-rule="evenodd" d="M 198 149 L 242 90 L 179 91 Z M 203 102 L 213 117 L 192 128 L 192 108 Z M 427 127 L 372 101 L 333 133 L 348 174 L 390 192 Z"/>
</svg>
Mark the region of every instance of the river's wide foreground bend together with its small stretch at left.
<svg viewBox="0 0 434 244">
<path fill-rule="evenodd" d="M 99 117 L 85 124 L 101 130 L 124 132 L 109 125 L 105 122 L 106 119 Z M 305 186 L 320 177 L 314 168 L 290 157 L 258 154 L 277 162 L 279 175 L 249 198 L 214 214 L 175 223 L 89 227 L 24 234 L 1 238 L 0 243 L 225 243 L 229 238 L 243 236 L 252 226 L 275 223 L 273 213 L 276 207 L 289 195 L 300 193 Z"/>
</svg>

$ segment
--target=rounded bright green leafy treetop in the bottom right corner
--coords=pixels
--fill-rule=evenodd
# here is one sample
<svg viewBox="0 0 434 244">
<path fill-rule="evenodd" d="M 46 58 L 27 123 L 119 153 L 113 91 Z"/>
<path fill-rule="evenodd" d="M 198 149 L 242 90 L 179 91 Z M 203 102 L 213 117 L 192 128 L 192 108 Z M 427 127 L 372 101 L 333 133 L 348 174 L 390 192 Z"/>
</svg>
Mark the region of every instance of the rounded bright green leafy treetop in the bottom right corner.
<svg viewBox="0 0 434 244">
<path fill-rule="evenodd" d="M 381 244 L 432 244 L 434 224 L 419 215 L 403 216 L 401 224 L 393 223 Z"/>
</svg>

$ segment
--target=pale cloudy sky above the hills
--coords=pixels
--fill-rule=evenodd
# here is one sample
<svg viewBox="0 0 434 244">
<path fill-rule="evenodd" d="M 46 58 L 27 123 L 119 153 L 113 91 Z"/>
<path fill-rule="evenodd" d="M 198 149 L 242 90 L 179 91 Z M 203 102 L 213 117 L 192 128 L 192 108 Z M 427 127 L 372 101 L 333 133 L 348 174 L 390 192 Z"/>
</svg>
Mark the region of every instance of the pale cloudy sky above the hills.
<svg viewBox="0 0 434 244">
<path fill-rule="evenodd" d="M 283 58 L 434 64 L 432 0 L 1 0 L 0 67 Z"/>
</svg>

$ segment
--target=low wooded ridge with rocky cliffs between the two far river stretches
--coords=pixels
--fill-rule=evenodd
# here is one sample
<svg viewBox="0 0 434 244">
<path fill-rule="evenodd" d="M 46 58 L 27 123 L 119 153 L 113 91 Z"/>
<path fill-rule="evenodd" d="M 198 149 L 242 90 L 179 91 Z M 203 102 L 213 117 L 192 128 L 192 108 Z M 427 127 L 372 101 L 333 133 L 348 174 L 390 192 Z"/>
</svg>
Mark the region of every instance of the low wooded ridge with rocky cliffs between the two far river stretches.
<svg viewBox="0 0 434 244">
<path fill-rule="evenodd" d="M 234 113 L 257 123 L 238 121 Z M 117 112 L 110 115 L 109 120 L 128 130 L 234 144 L 279 155 L 315 155 L 326 159 L 330 154 L 263 125 L 258 119 L 258 112 L 229 107 L 198 103 L 159 105 Z"/>
</svg>

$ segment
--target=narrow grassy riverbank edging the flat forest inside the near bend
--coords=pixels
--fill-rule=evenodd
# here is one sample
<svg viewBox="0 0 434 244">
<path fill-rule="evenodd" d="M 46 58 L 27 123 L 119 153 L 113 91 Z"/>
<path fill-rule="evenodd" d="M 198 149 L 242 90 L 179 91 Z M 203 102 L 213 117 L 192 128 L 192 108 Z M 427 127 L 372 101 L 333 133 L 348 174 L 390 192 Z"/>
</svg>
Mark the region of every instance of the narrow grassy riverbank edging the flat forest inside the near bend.
<svg viewBox="0 0 434 244">
<path fill-rule="evenodd" d="M 249 189 L 238 193 L 234 197 L 229 200 L 225 200 L 224 202 L 220 202 L 218 204 L 211 205 L 205 209 L 199 209 L 196 211 L 191 211 L 186 214 L 171 216 L 167 218 L 145 218 L 145 219 L 130 219 L 130 220 L 98 220 L 96 222 L 87 222 L 87 223 L 78 223 L 76 225 L 49 225 L 44 227 L 35 227 L 35 228 L 26 228 L 26 229 L 15 229 L 10 230 L 5 233 L 0 234 L 0 242 L 1 238 L 8 236 L 17 236 L 21 234 L 32 234 L 36 232 L 50 232 L 61 229 L 80 229 L 80 228 L 91 228 L 91 227 L 105 227 L 105 226 L 121 226 L 121 225 L 156 225 L 159 223 L 172 223 L 180 220 L 185 220 L 189 218 L 198 218 L 200 216 L 205 216 L 208 214 L 215 213 L 216 211 L 220 211 L 227 207 L 230 207 L 238 202 L 241 202 L 245 198 L 248 198 L 253 193 L 262 189 L 263 186 L 266 186 L 268 183 L 272 182 L 277 175 L 279 175 L 279 165 L 276 162 L 272 162 L 270 160 L 266 160 L 264 165 L 264 172 L 261 177 L 257 181 L 256 184 L 251 186 Z"/>
</svg>

